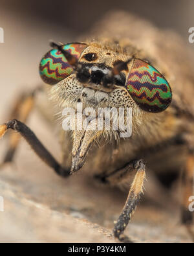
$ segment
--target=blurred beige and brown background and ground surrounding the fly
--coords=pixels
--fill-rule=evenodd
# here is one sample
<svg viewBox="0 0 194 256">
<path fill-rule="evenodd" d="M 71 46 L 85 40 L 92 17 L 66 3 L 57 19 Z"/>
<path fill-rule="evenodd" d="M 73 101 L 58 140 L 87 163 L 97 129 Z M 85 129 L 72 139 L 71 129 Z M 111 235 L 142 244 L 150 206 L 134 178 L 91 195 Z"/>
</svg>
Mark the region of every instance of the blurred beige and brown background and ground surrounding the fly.
<svg viewBox="0 0 194 256">
<path fill-rule="evenodd" d="M 125 10 L 151 21 L 158 28 L 174 30 L 191 51 L 194 49 L 194 43 L 188 42 L 188 29 L 194 27 L 193 0 L 0 0 L 0 27 L 5 33 L 5 43 L 0 43 L 0 123 L 7 121 L 12 103 L 21 91 L 41 83 L 38 65 L 49 49 L 48 40 L 76 41 L 111 10 Z M 58 140 L 37 112 L 32 113 L 28 125 L 59 159 Z M 5 147 L 6 139 L 3 139 L 1 159 Z M 81 224 L 74 229 L 71 216 L 86 218 L 111 230 L 126 195 L 117 190 L 109 194 L 108 190 L 89 184 L 89 189 L 85 190 L 84 182 L 81 173 L 68 181 L 62 180 L 21 141 L 14 165 L 0 172 L 0 196 L 5 198 L 5 213 L 0 213 L 0 242 L 107 241 L 101 235 L 96 237 L 96 230 L 84 229 Z M 188 241 L 183 229 L 179 237 L 177 235 L 178 218 L 170 225 L 174 215 L 167 213 L 166 204 L 162 215 L 156 205 L 153 215 L 152 205 L 148 210 L 147 205 L 145 209 L 144 205 L 138 208 L 130 234 L 143 241 Z M 176 213 L 178 215 L 178 209 Z M 162 227 L 161 223 L 165 225 Z M 166 231 L 168 225 L 170 231 Z M 170 239 L 167 232 L 171 232 Z"/>
</svg>

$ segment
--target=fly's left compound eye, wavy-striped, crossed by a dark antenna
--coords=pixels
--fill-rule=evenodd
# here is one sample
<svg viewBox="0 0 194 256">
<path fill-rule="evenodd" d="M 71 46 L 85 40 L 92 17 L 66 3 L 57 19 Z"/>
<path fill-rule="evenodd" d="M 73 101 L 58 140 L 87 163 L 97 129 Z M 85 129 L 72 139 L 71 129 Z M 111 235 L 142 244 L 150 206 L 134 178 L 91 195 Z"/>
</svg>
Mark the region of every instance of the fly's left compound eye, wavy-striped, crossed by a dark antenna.
<svg viewBox="0 0 194 256">
<path fill-rule="evenodd" d="M 87 47 L 85 43 L 68 43 L 63 45 L 63 50 L 69 51 L 77 59 Z M 46 84 L 57 84 L 73 73 L 74 69 L 69 65 L 61 51 L 52 49 L 43 56 L 39 64 L 39 74 Z"/>
</svg>

